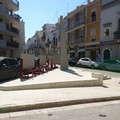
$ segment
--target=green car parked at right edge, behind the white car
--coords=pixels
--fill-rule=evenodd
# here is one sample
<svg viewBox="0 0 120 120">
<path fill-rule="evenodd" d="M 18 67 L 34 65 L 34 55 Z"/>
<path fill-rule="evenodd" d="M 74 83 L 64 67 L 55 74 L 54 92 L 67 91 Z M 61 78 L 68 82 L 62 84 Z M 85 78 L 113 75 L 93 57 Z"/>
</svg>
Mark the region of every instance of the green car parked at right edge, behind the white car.
<svg viewBox="0 0 120 120">
<path fill-rule="evenodd" d="M 101 64 L 101 69 L 120 71 L 120 61 L 119 60 L 104 60 L 103 63 Z"/>
</svg>

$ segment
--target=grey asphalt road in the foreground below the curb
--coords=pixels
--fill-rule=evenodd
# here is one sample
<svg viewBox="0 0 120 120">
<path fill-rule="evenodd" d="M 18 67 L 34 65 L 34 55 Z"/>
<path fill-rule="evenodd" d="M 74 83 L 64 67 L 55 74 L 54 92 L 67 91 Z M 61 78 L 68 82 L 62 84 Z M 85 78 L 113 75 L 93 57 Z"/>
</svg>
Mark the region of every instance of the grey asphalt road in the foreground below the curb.
<svg viewBox="0 0 120 120">
<path fill-rule="evenodd" d="M 0 120 L 120 120 L 120 101 L 6 113 Z"/>
</svg>

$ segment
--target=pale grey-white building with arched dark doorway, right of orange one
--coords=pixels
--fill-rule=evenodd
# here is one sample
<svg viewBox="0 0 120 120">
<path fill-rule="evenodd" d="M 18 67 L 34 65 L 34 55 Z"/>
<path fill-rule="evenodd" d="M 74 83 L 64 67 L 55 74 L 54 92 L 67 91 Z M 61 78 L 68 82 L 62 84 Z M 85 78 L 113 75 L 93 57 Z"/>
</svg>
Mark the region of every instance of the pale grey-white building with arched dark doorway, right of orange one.
<svg viewBox="0 0 120 120">
<path fill-rule="evenodd" d="M 101 2 L 101 57 L 120 59 L 120 0 Z"/>
</svg>

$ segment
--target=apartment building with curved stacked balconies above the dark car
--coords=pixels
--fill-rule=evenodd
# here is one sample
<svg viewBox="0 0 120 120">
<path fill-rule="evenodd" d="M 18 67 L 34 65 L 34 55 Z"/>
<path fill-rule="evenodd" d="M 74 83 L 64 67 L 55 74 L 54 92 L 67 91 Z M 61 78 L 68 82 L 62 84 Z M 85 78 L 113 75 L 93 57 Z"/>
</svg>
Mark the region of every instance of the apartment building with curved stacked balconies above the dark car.
<svg viewBox="0 0 120 120">
<path fill-rule="evenodd" d="M 0 56 L 19 57 L 24 51 L 24 22 L 18 10 L 17 0 L 0 0 Z"/>
</svg>

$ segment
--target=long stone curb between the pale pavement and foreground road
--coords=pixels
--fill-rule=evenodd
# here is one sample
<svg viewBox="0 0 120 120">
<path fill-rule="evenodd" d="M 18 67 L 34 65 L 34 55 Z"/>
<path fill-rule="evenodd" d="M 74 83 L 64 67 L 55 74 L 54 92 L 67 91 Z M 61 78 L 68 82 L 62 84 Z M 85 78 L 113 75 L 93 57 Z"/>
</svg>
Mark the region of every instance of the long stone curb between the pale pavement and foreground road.
<svg viewBox="0 0 120 120">
<path fill-rule="evenodd" d="M 58 102 L 29 104 L 29 105 L 7 106 L 7 107 L 0 107 L 0 113 L 26 111 L 26 110 L 33 110 L 33 109 L 60 107 L 60 106 L 77 105 L 77 104 L 86 104 L 86 103 L 93 103 L 93 102 L 114 101 L 114 100 L 120 100 L 120 96 L 66 100 L 66 101 L 58 101 Z"/>
</svg>

